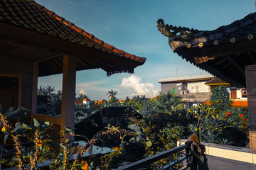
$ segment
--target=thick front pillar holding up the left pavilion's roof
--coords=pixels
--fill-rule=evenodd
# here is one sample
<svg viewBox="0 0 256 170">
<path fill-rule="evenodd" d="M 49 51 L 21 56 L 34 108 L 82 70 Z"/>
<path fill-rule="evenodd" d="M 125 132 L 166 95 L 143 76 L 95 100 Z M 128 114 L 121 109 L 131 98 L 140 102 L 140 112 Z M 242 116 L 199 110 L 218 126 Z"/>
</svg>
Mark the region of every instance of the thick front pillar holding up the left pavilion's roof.
<svg viewBox="0 0 256 170">
<path fill-rule="evenodd" d="M 76 59 L 63 55 L 63 91 L 60 130 L 66 126 L 75 128 L 75 76 Z"/>
</svg>

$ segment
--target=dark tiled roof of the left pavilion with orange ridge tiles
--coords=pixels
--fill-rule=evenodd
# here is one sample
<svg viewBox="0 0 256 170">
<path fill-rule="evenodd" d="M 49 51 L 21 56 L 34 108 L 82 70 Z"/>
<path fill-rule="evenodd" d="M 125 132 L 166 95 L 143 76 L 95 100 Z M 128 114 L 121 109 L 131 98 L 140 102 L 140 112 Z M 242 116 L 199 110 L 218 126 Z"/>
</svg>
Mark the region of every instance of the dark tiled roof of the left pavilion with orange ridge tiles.
<svg viewBox="0 0 256 170">
<path fill-rule="evenodd" d="M 114 68 L 112 63 L 106 66 L 104 63 L 99 64 L 92 59 L 90 62 L 87 62 L 87 65 L 81 64 L 82 62 L 80 62 L 78 70 L 102 68 L 107 71 L 107 74 L 133 72 L 135 67 L 144 64 L 146 60 L 143 57 L 137 57 L 103 42 L 33 0 L 1 0 L 0 23 L 31 30 L 35 33 L 50 36 L 51 38 L 57 38 L 58 40 L 89 48 L 90 50 L 107 53 L 109 54 L 107 56 L 118 57 L 117 60 L 126 59 L 134 63 L 134 66 L 127 66 L 127 68 Z M 3 39 L 5 38 L 2 37 L 1 40 Z M 97 53 L 97 55 L 99 54 Z M 81 58 L 81 60 L 83 59 Z M 83 61 L 86 62 L 85 60 Z M 53 74 L 60 73 L 57 69 Z M 52 73 L 42 73 L 41 76 L 48 74 Z"/>
</svg>

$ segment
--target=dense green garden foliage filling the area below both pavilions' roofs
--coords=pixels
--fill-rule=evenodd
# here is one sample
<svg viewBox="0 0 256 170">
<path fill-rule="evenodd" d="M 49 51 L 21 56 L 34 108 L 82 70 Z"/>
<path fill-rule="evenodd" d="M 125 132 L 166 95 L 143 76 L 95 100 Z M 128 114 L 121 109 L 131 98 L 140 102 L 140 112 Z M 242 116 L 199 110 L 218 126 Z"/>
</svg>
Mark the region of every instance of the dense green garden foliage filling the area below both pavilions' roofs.
<svg viewBox="0 0 256 170">
<path fill-rule="evenodd" d="M 36 159 L 35 162 L 41 162 L 46 159 L 44 155 L 50 152 L 50 155 L 55 158 L 55 164 L 52 166 L 54 169 L 90 169 L 93 167 L 93 163 L 85 162 L 80 158 L 83 152 L 90 151 L 90 147 L 95 142 L 99 142 L 102 147 L 112 147 L 113 152 L 100 159 L 101 166 L 98 166 L 98 169 L 117 168 L 137 159 L 151 157 L 159 152 L 164 152 L 166 149 L 176 147 L 178 140 L 188 138 L 193 132 L 199 132 L 202 142 L 239 147 L 247 145 L 247 109 L 231 108 L 232 101 L 229 99 L 225 86 L 213 89 L 213 94 L 210 96 L 210 105 L 192 106 L 187 110 L 183 109 L 181 98 L 171 94 L 170 91 L 160 93 L 159 96 L 154 98 L 133 96 L 124 100 L 116 98 L 117 93 L 115 92 L 108 91 L 107 96 L 110 97 L 108 101 L 91 101 L 90 108 L 86 108 L 83 105 L 75 106 L 76 127 L 86 123 L 86 125 L 91 126 L 92 131 L 96 130 L 96 135 L 86 138 L 82 137 L 84 134 L 75 135 L 79 132 L 78 129 L 81 128 L 77 128 L 77 132 L 73 132 L 70 128 L 62 131 L 64 136 L 68 134 L 79 136 L 79 139 L 82 137 L 88 142 L 88 145 L 80 150 L 77 159 L 71 163 L 68 162 L 68 157 L 71 154 L 67 147 L 68 140 L 60 144 L 63 147 L 63 152 L 58 155 L 48 149 L 50 140 L 47 140 L 44 135 L 45 130 L 41 131 L 38 127 L 39 125 L 45 125 L 47 129 L 50 128 L 50 123 L 39 123 L 34 120 L 34 126 L 17 123 L 16 127 L 9 127 L 6 118 L 15 117 L 15 112 L 20 112 L 23 113 L 20 115 L 24 115 L 25 111 L 23 108 L 18 108 L 14 112 L 9 109 L 5 114 L 1 111 L 0 125 L 2 124 L 1 126 L 3 127 L 2 132 L 5 133 L 6 138 L 11 135 L 16 149 L 19 150 L 19 154 L 14 157 L 13 162 L 16 160 L 14 164 L 20 167 L 29 164 L 32 167 L 33 159 Z M 114 111 L 111 108 L 117 108 L 115 110 L 122 111 L 122 113 L 105 113 L 105 111 Z M 124 110 L 127 112 L 124 112 Z M 100 119 L 97 116 L 101 116 Z M 99 120 L 101 121 L 99 122 Z M 33 131 L 31 141 L 33 141 L 34 147 L 29 152 L 21 149 L 22 146 L 18 145 L 20 141 L 17 140 L 15 142 L 16 138 L 22 137 L 26 130 Z M 113 140 L 116 138 L 118 140 Z M 120 142 L 121 145 L 117 145 L 117 143 L 110 145 L 112 141 Z M 134 154 L 131 148 L 137 148 L 137 152 L 142 153 L 142 156 L 138 157 L 140 154 Z M 35 153 L 40 159 L 31 158 Z M 166 159 L 161 159 L 154 164 L 148 165 L 147 169 L 159 169 L 176 158 L 178 158 L 178 155 L 166 157 Z M 18 159 L 24 159 L 25 162 L 18 163 Z"/>
</svg>

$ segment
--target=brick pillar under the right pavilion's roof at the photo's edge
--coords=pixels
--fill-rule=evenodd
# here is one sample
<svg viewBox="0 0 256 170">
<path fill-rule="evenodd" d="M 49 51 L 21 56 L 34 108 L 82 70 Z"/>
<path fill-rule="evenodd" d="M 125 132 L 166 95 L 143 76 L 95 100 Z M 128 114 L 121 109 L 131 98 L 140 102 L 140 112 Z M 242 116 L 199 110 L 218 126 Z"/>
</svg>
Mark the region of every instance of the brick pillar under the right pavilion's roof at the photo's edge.
<svg viewBox="0 0 256 170">
<path fill-rule="evenodd" d="M 245 66 L 250 150 L 256 153 L 256 64 Z"/>
</svg>

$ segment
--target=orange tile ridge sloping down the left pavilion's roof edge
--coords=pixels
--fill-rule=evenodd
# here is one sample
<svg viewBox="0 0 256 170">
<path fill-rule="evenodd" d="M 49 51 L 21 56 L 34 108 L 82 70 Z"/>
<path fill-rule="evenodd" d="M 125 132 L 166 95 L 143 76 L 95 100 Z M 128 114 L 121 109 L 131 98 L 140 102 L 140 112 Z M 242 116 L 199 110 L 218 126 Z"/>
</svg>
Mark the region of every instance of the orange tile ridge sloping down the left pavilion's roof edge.
<svg viewBox="0 0 256 170">
<path fill-rule="evenodd" d="M 58 16 L 58 14 L 54 13 L 53 11 L 50 11 L 45 6 L 38 4 L 36 1 L 34 1 L 34 0 L 26 0 L 26 1 L 28 1 L 28 3 L 31 3 L 33 6 L 36 6 L 37 8 L 40 8 L 43 11 L 46 11 L 46 13 L 48 13 L 48 15 L 50 17 L 55 18 L 56 20 L 65 24 L 65 26 L 72 28 L 73 30 L 75 30 L 76 32 L 82 34 L 83 36 L 89 38 L 93 42 L 96 42 L 98 45 L 102 45 L 103 47 L 107 48 L 108 50 L 112 50 L 112 52 L 117 53 L 119 56 L 121 56 L 121 57 L 124 56 L 127 59 L 135 60 L 137 62 L 145 62 L 146 61 L 146 58 L 144 58 L 144 57 L 138 57 L 136 55 L 129 54 L 128 52 L 124 52 L 123 50 L 120 50 L 117 47 L 107 44 L 103 40 L 100 40 L 99 38 L 95 37 L 95 35 L 92 35 L 92 34 L 88 33 L 87 31 L 83 30 L 82 28 L 75 26 L 74 23 L 71 23 L 70 21 L 65 20 L 65 18 Z"/>
</svg>

